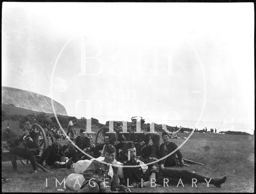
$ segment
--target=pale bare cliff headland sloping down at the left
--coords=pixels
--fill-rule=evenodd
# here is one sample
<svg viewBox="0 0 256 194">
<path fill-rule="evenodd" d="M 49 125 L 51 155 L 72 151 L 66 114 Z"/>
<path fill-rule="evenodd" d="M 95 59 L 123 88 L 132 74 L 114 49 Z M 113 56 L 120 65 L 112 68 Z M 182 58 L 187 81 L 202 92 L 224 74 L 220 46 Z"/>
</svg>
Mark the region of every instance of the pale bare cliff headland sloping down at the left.
<svg viewBox="0 0 256 194">
<path fill-rule="evenodd" d="M 62 106 L 62 104 L 56 101 L 53 102 L 56 114 L 68 116 L 66 109 L 64 106 Z M 33 112 L 53 113 L 51 98 L 17 88 L 2 86 L 2 108 L 3 104 L 16 108 L 31 110 Z M 11 110 L 11 108 L 9 109 Z M 12 108 L 12 110 L 14 110 L 14 108 Z M 19 111 L 19 109 L 17 109 L 17 111 Z M 6 114 L 8 114 L 8 112 L 6 112 Z"/>
</svg>

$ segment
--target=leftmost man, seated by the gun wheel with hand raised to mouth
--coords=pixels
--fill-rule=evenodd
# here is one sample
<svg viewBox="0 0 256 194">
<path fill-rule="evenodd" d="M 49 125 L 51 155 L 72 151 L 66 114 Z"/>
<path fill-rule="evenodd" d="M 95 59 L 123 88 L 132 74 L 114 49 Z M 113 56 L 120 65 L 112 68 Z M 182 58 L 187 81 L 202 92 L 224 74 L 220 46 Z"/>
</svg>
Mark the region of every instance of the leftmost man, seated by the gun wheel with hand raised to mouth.
<svg viewBox="0 0 256 194">
<path fill-rule="evenodd" d="M 14 143 L 18 145 L 20 142 L 24 143 L 24 148 L 13 147 L 10 148 L 10 156 L 12 161 L 12 168 L 14 171 L 17 170 L 17 156 L 29 159 L 33 171 L 32 173 L 37 173 L 36 166 L 36 155 L 39 155 L 40 149 L 38 147 L 38 132 L 32 129 L 32 120 L 28 117 L 24 119 L 24 129 L 21 134 L 15 139 Z"/>
</svg>

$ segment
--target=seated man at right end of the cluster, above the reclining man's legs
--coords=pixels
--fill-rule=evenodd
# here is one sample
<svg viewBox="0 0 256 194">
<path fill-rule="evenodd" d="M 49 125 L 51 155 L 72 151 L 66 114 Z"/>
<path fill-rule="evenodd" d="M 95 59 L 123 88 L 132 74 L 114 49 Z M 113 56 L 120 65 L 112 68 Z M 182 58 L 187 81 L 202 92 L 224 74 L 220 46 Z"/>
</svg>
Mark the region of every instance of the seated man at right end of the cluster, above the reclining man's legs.
<svg viewBox="0 0 256 194">
<path fill-rule="evenodd" d="M 178 146 L 176 145 L 176 143 L 169 141 L 168 133 L 166 133 L 165 131 L 162 133 L 162 139 L 164 143 L 160 145 L 160 154 L 161 154 L 161 157 L 165 157 L 169 153 L 172 153 L 172 151 L 174 151 Z M 178 156 L 180 163 L 178 163 L 176 159 L 176 154 Z M 181 151 L 178 149 L 175 153 L 173 153 L 169 157 L 161 160 L 161 165 L 165 167 L 174 167 L 174 166 L 182 167 L 184 165 L 184 161 L 182 159 Z"/>
</svg>

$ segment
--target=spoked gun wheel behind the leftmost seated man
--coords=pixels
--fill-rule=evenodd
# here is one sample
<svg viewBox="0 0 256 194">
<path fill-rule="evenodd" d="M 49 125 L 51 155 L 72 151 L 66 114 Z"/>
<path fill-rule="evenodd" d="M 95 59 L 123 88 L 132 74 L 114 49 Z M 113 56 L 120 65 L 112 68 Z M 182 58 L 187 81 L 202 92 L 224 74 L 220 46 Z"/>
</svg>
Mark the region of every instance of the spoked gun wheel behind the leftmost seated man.
<svg viewBox="0 0 256 194">
<path fill-rule="evenodd" d="M 44 154 L 44 151 L 46 150 L 47 148 L 47 143 L 46 143 L 46 134 L 45 134 L 45 131 L 44 129 L 38 125 L 37 123 L 33 123 L 32 124 L 32 129 L 34 129 L 34 131 L 38 131 L 39 133 L 39 137 L 38 137 L 38 146 L 39 146 L 39 149 L 40 149 L 40 153 L 39 155 L 42 156 Z M 36 156 L 36 158 L 39 157 L 39 156 Z M 30 163 L 30 160 L 28 159 L 21 159 L 20 160 L 22 162 L 22 164 L 24 165 L 28 165 L 28 166 L 31 166 L 31 163 Z"/>
</svg>

